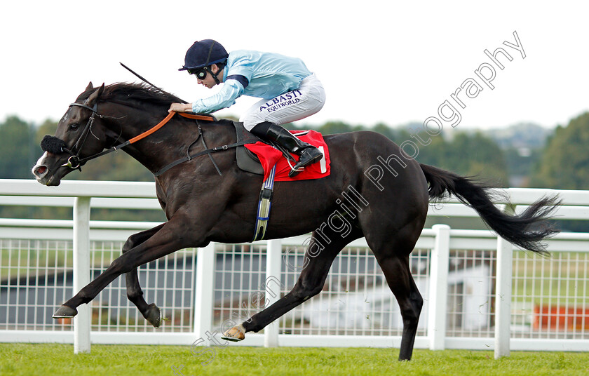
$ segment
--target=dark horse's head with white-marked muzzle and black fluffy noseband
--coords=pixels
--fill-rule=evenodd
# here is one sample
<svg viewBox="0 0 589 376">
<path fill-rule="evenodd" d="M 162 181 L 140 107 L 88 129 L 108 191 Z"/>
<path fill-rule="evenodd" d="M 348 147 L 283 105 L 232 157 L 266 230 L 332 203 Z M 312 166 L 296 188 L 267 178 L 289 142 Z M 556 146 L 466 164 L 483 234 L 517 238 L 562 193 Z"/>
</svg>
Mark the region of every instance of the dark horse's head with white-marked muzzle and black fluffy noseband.
<svg viewBox="0 0 589 376">
<path fill-rule="evenodd" d="M 78 99 L 65 112 L 57 124 L 55 136 L 46 135 L 41 141 L 44 153 L 32 169 L 41 184 L 59 185 L 62 177 L 80 169 L 81 159 L 104 149 L 107 136 L 100 126 L 97 102 L 104 90 L 88 85 Z"/>
</svg>

